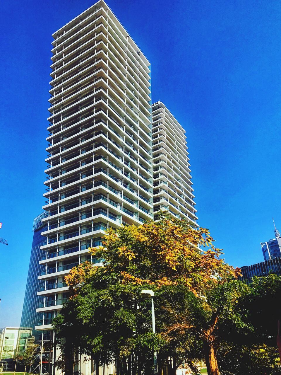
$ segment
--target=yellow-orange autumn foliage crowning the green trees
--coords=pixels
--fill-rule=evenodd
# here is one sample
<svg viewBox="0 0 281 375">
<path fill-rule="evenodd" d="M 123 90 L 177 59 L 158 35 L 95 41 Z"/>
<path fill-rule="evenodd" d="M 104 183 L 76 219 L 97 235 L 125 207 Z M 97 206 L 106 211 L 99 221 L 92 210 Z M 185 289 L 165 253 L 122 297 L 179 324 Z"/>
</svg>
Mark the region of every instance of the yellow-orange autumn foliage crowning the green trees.
<svg viewBox="0 0 281 375">
<path fill-rule="evenodd" d="M 109 229 L 104 246 L 89 251 L 105 260 L 99 272 L 114 270 L 123 284 L 156 288 L 184 284 L 198 295 L 208 284 L 237 278 L 240 272 L 219 258 L 221 251 L 213 242 L 208 229 L 196 230 L 184 220 L 162 214 L 157 222 Z M 81 284 L 94 269 L 91 263 L 75 267 L 66 276 L 67 285 Z"/>
</svg>

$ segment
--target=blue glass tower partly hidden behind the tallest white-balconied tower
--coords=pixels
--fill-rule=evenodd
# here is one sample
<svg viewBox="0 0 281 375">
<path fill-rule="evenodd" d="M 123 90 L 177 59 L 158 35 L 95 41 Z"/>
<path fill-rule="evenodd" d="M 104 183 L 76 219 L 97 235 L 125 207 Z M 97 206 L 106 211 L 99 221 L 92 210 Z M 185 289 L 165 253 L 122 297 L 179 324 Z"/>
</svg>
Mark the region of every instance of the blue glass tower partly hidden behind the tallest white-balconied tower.
<svg viewBox="0 0 281 375">
<path fill-rule="evenodd" d="M 35 217 L 33 222 L 33 242 L 21 315 L 21 327 L 32 327 L 32 334 L 35 336 L 38 336 L 38 331 L 34 330 L 38 320 L 36 308 L 38 304 L 43 303 L 43 297 L 38 297 L 37 292 L 44 286 L 43 281 L 38 280 L 38 275 L 44 270 L 44 266 L 39 264 L 39 261 L 43 259 L 40 246 L 46 244 L 46 237 L 41 236 L 41 231 L 45 231 L 47 228 L 46 223 L 42 222 L 42 219 L 46 216 L 47 212 L 43 211 Z"/>
</svg>

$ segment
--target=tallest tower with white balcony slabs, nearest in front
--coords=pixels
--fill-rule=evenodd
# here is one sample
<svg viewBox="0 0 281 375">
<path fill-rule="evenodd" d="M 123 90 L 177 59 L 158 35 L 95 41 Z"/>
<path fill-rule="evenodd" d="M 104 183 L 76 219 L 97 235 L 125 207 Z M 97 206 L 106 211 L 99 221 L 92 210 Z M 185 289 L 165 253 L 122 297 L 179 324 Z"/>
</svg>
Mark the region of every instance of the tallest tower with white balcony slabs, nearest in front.
<svg viewBox="0 0 281 375">
<path fill-rule="evenodd" d="M 39 330 L 104 230 L 152 219 L 150 64 L 103 0 L 53 34 Z"/>
</svg>

